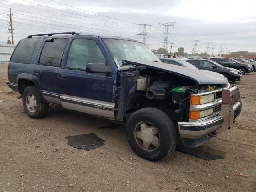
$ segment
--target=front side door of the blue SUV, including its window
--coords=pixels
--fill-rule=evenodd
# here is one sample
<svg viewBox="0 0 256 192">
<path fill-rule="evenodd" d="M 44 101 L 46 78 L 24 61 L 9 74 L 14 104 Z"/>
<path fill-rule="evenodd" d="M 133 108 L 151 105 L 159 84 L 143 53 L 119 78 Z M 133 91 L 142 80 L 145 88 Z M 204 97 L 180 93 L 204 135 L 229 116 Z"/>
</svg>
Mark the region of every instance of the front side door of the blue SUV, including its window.
<svg viewBox="0 0 256 192">
<path fill-rule="evenodd" d="M 73 39 L 60 72 L 60 100 L 64 108 L 114 119 L 116 75 L 88 73 L 88 63 L 108 64 L 92 38 Z"/>
</svg>

